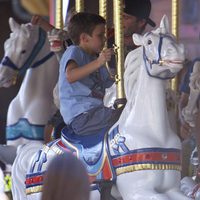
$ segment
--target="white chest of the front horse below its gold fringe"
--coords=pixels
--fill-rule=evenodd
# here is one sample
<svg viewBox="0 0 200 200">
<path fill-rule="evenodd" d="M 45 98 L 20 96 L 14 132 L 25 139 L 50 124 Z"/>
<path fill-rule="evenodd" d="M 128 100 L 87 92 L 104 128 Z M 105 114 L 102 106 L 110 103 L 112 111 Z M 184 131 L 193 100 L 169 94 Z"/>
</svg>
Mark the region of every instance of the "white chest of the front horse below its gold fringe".
<svg viewBox="0 0 200 200">
<path fill-rule="evenodd" d="M 143 179 L 141 176 L 143 176 Z M 134 177 L 129 177 L 129 180 L 139 180 L 140 178 L 141 181 L 135 183 L 135 185 L 127 185 L 128 175 L 122 174 L 118 177 L 117 187 L 123 200 L 189 200 L 180 191 L 179 184 L 174 183 L 169 178 L 171 176 L 178 178 L 179 174 L 169 171 L 163 175 L 162 170 L 159 170 L 159 173 L 158 171 L 156 173 L 152 171 L 150 174 L 149 172 L 138 171 L 135 172 Z M 165 181 L 163 181 L 164 179 Z"/>
</svg>

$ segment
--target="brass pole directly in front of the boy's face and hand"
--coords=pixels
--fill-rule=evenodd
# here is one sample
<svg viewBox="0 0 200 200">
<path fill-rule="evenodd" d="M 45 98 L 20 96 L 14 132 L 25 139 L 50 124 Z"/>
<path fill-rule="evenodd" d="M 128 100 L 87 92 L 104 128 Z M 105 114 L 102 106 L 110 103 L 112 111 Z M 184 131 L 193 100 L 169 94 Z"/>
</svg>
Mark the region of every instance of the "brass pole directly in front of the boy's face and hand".
<svg viewBox="0 0 200 200">
<path fill-rule="evenodd" d="M 124 31 L 122 25 L 123 6 L 122 0 L 113 0 L 114 27 L 115 27 L 115 45 L 117 46 L 117 98 L 123 99 L 124 93 Z"/>
</svg>

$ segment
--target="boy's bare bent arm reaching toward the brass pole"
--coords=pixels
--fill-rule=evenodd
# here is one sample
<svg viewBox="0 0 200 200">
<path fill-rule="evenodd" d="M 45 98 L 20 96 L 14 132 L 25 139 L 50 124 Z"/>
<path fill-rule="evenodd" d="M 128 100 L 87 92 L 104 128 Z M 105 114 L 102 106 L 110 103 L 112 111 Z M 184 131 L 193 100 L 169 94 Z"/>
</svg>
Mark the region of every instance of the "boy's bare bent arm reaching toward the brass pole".
<svg viewBox="0 0 200 200">
<path fill-rule="evenodd" d="M 69 81 L 69 83 L 73 83 L 89 76 L 91 73 L 98 70 L 107 61 L 109 61 L 112 53 L 112 49 L 106 49 L 100 53 L 99 57 L 96 60 L 82 67 L 78 67 L 77 63 L 73 60 L 69 61 L 66 66 L 67 80 Z"/>
</svg>

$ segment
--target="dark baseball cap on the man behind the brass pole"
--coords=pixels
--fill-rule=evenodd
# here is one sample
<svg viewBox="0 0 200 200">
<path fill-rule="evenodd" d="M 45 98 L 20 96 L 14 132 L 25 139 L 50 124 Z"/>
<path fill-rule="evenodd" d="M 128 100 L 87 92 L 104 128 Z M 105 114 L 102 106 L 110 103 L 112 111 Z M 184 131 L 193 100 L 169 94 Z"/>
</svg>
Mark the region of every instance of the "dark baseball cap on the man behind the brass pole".
<svg viewBox="0 0 200 200">
<path fill-rule="evenodd" d="M 124 12 L 140 19 L 146 19 L 152 27 L 156 26 L 156 23 L 149 18 L 151 12 L 150 0 L 125 0 Z"/>
</svg>

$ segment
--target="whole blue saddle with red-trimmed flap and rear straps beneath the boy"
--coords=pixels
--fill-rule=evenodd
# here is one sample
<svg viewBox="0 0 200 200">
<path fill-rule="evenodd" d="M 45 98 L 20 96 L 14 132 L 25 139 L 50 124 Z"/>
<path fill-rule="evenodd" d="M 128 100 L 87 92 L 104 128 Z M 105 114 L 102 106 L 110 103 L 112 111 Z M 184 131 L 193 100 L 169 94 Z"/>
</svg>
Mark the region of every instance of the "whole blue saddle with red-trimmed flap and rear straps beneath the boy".
<svg viewBox="0 0 200 200">
<path fill-rule="evenodd" d="M 44 146 L 43 150 L 40 150 L 35 157 L 30 173 L 26 175 L 26 191 L 29 193 L 32 188 L 42 184 L 41 177 L 44 176 L 42 166 L 47 161 L 45 149 L 53 149 L 54 152 L 71 151 L 76 154 L 86 166 L 91 183 L 113 180 L 115 173 L 110 159 L 106 156 L 106 133 L 106 129 L 103 129 L 94 135 L 79 136 L 69 127 L 64 127 L 61 131 L 61 139 L 48 143 L 47 147 Z M 36 165 L 36 163 L 38 164 Z"/>
</svg>

